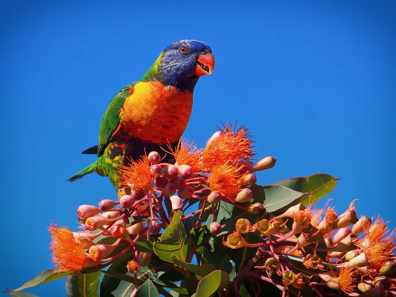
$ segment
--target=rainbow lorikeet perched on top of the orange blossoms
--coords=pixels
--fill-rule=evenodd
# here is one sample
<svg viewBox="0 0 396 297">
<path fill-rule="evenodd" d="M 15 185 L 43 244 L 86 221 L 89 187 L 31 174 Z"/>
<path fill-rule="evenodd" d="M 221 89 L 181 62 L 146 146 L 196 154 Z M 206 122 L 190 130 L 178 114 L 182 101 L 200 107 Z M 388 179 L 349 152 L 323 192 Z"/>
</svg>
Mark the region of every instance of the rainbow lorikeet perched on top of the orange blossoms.
<svg viewBox="0 0 396 297">
<path fill-rule="evenodd" d="M 190 119 L 199 77 L 213 71 L 212 50 L 203 42 L 180 40 L 164 49 L 143 78 L 123 88 L 103 115 L 99 145 L 83 153 L 98 160 L 68 179 L 91 172 L 110 178 L 117 188 L 118 168 L 152 150 L 162 156 L 178 145 Z"/>
</svg>

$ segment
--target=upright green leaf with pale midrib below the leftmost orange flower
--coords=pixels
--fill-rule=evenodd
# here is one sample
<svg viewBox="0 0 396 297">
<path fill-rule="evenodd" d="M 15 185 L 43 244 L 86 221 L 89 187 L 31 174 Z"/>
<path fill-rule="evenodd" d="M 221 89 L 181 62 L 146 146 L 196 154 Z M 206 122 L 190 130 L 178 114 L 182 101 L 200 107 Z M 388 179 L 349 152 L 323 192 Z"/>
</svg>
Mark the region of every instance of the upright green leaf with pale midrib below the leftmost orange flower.
<svg viewBox="0 0 396 297">
<path fill-rule="evenodd" d="M 69 297 L 98 297 L 101 272 L 77 273 L 66 280 L 66 293 Z"/>
</svg>

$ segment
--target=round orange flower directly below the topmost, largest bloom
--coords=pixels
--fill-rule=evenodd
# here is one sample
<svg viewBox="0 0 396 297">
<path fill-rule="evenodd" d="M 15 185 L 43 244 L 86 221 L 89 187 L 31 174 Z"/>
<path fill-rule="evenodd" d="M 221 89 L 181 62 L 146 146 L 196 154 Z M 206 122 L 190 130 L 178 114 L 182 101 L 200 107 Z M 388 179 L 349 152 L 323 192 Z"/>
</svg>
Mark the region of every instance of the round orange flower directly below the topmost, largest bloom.
<svg viewBox="0 0 396 297">
<path fill-rule="evenodd" d="M 241 169 L 242 167 L 230 162 L 213 167 L 207 180 L 210 190 L 220 192 L 226 199 L 235 200 L 242 189 Z"/>
</svg>

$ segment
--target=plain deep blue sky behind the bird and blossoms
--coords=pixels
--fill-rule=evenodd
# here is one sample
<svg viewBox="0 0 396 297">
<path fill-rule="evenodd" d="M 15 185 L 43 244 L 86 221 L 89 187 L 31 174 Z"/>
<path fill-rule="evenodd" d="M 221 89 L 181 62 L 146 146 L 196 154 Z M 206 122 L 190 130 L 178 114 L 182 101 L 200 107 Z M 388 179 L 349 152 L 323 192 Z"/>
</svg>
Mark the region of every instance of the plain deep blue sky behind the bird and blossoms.
<svg viewBox="0 0 396 297">
<path fill-rule="evenodd" d="M 1 290 L 53 267 L 52 220 L 75 230 L 80 204 L 115 198 L 98 175 L 65 180 L 94 161 L 81 151 L 113 96 L 180 39 L 216 60 L 185 137 L 202 147 L 238 120 L 259 158 L 278 159 L 259 183 L 329 173 L 339 213 L 359 199 L 358 215 L 395 228 L 395 1 L 143 2 L 0 4 Z M 28 292 L 65 296 L 64 282 Z"/>
</svg>

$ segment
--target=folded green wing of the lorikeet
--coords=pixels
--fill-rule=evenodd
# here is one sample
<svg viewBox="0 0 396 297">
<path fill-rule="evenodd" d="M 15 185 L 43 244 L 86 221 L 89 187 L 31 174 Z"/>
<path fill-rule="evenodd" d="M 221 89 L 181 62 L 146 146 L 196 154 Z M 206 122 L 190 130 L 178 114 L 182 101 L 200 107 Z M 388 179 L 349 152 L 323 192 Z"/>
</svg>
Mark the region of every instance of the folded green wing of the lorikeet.
<svg viewBox="0 0 396 297">
<path fill-rule="evenodd" d="M 130 95 L 129 90 L 136 84 L 137 82 L 123 88 L 108 105 L 100 123 L 98 156 L 103 154 L 104 149 L 111 142 L 113 132 L 120 124 L 120 109 L 124 106 L 125 99 Z"/>
</svg>

